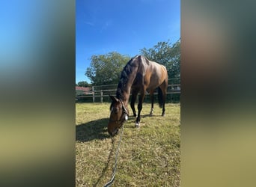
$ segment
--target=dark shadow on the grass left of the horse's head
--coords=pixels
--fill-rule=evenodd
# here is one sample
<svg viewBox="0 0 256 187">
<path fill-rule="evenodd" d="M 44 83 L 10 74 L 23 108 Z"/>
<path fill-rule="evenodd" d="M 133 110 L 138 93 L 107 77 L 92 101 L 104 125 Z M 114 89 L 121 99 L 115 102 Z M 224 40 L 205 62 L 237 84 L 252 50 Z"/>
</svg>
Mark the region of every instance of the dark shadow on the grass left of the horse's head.
<svg viewBox="0 0 256 187">
<path fill-rule="evenodd" d="M 109 138 L 107 132 L 108 118 L 92 120 L 88 123 L 76 125 L 76 141 L 91 141 L 94 139 L 103 140 Z"/>
</svg>

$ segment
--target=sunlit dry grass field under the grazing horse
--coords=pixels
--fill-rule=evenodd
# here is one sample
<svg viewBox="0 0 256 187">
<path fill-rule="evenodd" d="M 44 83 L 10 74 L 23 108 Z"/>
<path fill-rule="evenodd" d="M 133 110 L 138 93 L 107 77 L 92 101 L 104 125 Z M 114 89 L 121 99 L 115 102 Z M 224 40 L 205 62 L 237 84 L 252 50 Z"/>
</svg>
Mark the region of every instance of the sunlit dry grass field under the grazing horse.
<svg viewBox="0 0 256 187">
<path fill-rule="evenodd" d="M 76 186 L 104 186 L 112 176 L 120 135 L 107 132 L 109 105 L 76 104 Z M 124 123 L 112 186 L 180 186 L 180 105 L 165 108 L 165 117 L 158 105 L 150 117 L 144 103 L 141 127 L 134 127 L 135 117 Z"/>
</svg>

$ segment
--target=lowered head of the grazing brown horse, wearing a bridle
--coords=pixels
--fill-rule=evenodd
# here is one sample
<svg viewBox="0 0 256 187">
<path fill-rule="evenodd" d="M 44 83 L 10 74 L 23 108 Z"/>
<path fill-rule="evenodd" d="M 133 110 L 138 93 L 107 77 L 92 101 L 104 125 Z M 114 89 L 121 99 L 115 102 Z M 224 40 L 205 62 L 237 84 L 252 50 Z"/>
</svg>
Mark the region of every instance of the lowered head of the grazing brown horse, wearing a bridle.
<svg viewBox="0 0 256 187">
<path fill-rule="evenodd" d="M 125 120 L 128 120 L 128 111 L 125 108 L 121 99 L 115 96 L 110 96 L 112 104 L 110 105 L 110 117 L 108 124 L 109 135 L 116 135 L 119 128 L 123 125 Z"/>
</svg>

